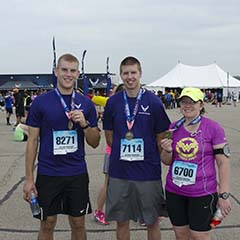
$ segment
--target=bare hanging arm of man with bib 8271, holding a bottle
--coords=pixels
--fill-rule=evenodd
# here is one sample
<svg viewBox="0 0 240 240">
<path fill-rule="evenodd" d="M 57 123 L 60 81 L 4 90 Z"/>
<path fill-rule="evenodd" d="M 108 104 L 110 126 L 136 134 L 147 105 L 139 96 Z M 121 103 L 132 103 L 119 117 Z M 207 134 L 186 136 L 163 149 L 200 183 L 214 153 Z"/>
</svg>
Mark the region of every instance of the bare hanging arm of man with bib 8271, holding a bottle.
<svg viewBox="0 0 240 240">
<path fill-rule="evenodd" d="M 37 194 L 34 184 L 34 163 L 38 149 L 39 128 L 28 128 L 28 141 L 25 153 L 25 183 L 23 186 L 24 199 L 30 200 L 31 192 Z"/>
</svg>

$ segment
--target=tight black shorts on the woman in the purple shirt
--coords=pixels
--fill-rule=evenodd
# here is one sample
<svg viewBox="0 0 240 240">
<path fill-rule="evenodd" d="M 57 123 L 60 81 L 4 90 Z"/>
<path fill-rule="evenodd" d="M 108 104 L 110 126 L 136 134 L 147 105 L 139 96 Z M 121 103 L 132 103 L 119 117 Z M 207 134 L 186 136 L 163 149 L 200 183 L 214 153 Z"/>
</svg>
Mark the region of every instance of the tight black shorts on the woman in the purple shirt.
<svg viewBox="0 0 240 240">
<path fill-rule="evenodd" d="M 166 191 L 168 215 L 174 226 L 186 226 L 194 231 L 209 231 L 216 211 L 217 193 L 202 197 L 186 197 Z"/>
</svg>

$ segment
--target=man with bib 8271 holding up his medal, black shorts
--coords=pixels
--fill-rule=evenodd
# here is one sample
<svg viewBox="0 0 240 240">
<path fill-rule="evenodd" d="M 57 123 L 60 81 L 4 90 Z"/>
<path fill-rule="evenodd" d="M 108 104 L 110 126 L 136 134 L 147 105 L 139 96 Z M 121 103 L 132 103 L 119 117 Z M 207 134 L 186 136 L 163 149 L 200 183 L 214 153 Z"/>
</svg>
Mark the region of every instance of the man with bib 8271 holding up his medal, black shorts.
<svg viewBox="0 0 240 240">
<path fill-rule="evenodd" d="M 91 100 L 74 91 L 79 76 L 78 59 L 62 55 L 55 75 L 57 87 L 37 97 L 30 108 L 26 147 L 24 199 L 38 195 L 41 213 L 39 240 L 53 239 L 57 214 L 69 216 L 72 240 L 85 240 L 84 216 L 91 213 L 84 138 L 96 148 L 100 134 Z M 38 170 L 34 184 L 34 163 L 40 138 Z"/>
</svg>

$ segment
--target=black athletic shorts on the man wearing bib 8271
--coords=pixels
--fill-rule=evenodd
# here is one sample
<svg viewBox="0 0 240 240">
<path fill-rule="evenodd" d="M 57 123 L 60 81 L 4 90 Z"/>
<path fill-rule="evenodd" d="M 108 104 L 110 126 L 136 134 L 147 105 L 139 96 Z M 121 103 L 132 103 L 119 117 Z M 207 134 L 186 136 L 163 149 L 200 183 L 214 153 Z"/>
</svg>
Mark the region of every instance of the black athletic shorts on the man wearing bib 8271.
<svg viewBox="0 0 240 240">
<path fill-rule="evenodd" d="M 76 176 L 37 175 L 36 187 L 41 213 L 36 218 L 66 214 L 80 217 L 92 213 L 88 174 Z"/>
</svg>

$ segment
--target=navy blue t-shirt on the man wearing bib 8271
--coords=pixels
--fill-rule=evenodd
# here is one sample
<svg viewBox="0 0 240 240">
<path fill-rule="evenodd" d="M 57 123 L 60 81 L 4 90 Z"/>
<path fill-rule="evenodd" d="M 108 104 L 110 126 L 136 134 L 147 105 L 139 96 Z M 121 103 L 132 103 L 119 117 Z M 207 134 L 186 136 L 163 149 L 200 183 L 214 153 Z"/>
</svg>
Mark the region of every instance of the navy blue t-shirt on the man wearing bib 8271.
<svg viewBox="0 0 240 240">
<path fill-rule="evenodd" d="M 71 95 L 62 95 L 70 108 Z M 97 126 L 97 115 L 91 100 L 76 93 L 75 107 L 83 111 L 91 127 Z M 74 176 L 87 172 L 84 150 L 84 133 L 79 124 L 77 130 L 77 151 L 62 155 L 53 153 L 53 131 L 68 130 L 68 118 L 59 96 L 54 90 L 38 96 L 32 103 L 27 117 L 27 125 L 40 128 L 38 173 L 48 176 Z"/>
</svg>

